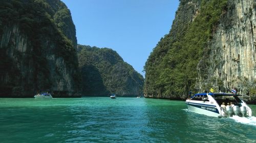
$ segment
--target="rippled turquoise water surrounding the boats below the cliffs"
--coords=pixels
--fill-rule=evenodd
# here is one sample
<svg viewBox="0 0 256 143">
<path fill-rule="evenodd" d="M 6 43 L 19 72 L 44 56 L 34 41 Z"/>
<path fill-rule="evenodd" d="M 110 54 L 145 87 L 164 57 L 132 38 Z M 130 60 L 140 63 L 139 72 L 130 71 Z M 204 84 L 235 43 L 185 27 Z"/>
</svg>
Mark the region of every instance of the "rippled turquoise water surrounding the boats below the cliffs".
<svg viewBox="0 0 256 143">
<path fill-rule="evenodd" d="M 0 142 L 248 143 L 256 142 L 254 116 L 210 117 L 145 98 L 0 99 Z"/>
</svg>

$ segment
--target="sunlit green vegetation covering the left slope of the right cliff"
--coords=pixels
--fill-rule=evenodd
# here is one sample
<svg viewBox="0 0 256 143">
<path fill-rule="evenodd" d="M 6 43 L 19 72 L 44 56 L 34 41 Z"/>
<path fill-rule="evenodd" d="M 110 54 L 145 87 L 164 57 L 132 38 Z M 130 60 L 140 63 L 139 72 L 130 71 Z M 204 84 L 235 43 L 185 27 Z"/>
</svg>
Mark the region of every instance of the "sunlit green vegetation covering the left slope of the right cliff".
<svg viewBox="0 0 256 143">
<path fill-rule="evenodd" d="M 189 90 L 194 90 L 197 64 L 225 12 L 227 0 L 184 0 L 176 15 L 184 10 L 185 5 L 193 9 L 195 3 L 201 4 L 193 21 L 188 21 L 187 25 L 179 21 L 174 23 L 180 27 L 162 38 L 147 59 L 144 66 L 146 96 L 180 99 L 185 98 Z"/>
</svg>

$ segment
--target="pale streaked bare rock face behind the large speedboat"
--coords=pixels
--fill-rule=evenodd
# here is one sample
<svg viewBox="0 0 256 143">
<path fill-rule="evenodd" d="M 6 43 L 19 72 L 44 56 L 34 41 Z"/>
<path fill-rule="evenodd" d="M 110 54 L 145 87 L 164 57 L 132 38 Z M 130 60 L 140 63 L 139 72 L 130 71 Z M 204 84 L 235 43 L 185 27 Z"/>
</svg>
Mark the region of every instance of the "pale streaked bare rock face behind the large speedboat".
<svg viewBox="0 0 256 143">
<path fill-rule="evenodd" d="M 212 86 L 224 92 L 235 88 L 249 102 L 256 102 L 255 8 L 255 1 L 228 1 L 228 10 L 198 65 L 197 88 Z"/>
</svg>

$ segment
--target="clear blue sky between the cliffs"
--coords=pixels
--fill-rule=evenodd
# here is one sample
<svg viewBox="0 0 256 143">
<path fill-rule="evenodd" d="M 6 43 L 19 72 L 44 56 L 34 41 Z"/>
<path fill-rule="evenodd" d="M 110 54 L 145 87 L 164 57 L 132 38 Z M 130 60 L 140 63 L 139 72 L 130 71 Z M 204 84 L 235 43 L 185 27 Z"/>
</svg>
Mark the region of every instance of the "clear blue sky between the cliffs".
<svg viewBox="0 0 256 143">
<path fill-rule="evenodd" d="M 61 0 L 71 11 L 78 44 L 108 47 L 141 75 L 161 37 L 169 33 L 178 0 Z"/>
</svg>

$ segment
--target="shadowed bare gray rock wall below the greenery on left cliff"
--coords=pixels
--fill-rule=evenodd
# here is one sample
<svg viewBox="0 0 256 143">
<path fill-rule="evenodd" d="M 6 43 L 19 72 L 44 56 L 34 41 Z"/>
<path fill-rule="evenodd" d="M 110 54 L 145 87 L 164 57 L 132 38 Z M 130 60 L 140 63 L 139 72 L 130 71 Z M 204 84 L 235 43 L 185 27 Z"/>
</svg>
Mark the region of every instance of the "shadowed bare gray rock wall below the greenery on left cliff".
<svg viewBox="0 0 256 143">
<path fill-rule="evenodd" d="M 7 58 L 1 65 L 1 97 L 32 97 L 39 91 L 52 92 L 54 97 L 77 96 L 77 66 L 58 56 L 51 37 L 42 34 L 43 42 L 32 46 L 18 25 L 5 27 L 1 37 L 0 50 Z"/>
</svg>

